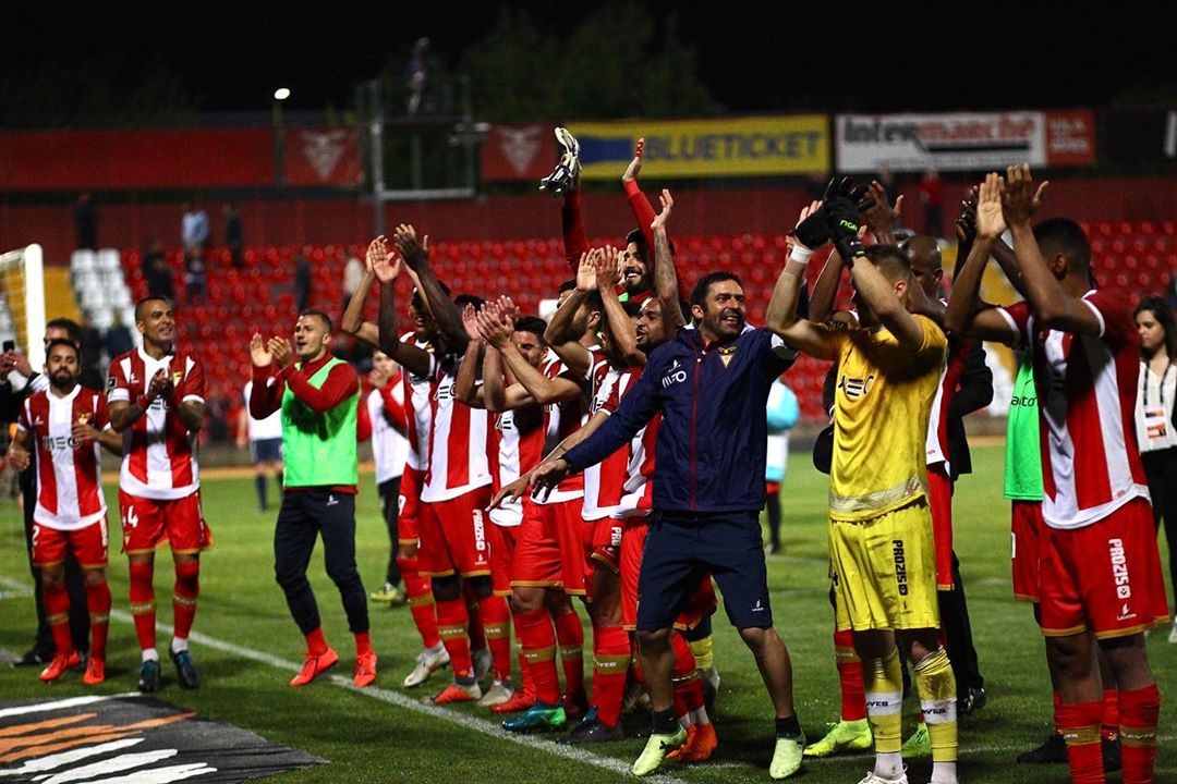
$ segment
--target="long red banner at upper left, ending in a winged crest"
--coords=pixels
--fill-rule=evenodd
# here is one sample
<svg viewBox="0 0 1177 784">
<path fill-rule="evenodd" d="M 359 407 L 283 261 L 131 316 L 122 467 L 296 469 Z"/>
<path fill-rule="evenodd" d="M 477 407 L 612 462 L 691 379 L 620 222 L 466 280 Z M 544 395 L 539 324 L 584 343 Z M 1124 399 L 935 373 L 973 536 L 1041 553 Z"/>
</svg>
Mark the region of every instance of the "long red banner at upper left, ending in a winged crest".
<svg viewBox="0 0 1177 784">
<path fill-rule="evenodd" d="M 286 182 L 360 181 L 358 134 L 288 128 Z M 265 187 L 274 183 L 272 128 L 0 133 L 0 190 Z"/>
</svg>

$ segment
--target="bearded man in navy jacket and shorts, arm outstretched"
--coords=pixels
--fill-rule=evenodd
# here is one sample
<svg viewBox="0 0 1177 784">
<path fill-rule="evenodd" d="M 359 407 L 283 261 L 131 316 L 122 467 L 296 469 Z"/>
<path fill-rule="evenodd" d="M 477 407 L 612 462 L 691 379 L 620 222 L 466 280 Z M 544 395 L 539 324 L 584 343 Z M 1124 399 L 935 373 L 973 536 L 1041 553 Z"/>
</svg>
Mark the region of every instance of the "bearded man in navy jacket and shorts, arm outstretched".
<svg viewBox="0 0 1177 784">
<path fill-rule="evenodd" d="M 743 287 L 731 273 L 703 277 L 691 292 L 691 311 L 697 328 L 680 328 L 656 349 L 617 413 L 541 469 L 536 482 L 550 487 L 600 462 L 661 413 L 654 514 L 638 584 L 638 637 L 653 731 L 673 731 L 670 635 L 686 599 L 711 572 L 727 617 L 756 655 L 776 709 L 778 739 L 787 737 L 793 746 L 785 756 L 796 756 L 799 765 L 804 739 L 793 712 L 792 668 L 772 629 L 759 523 L 765 403 L 772 382 L 797 354 L 767 329 L 745 324 Z"/>
</svg>

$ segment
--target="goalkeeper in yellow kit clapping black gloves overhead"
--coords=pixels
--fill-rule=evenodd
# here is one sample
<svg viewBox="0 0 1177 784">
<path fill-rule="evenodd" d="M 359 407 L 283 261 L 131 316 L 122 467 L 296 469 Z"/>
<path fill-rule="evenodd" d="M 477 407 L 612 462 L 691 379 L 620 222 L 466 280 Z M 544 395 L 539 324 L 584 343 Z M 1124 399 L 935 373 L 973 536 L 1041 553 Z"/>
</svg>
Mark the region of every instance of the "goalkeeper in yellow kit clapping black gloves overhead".
<svg viewBox="0 0 1177 784">
<path fill-rule="evenodd" d="M 847 183 L 802 213 L 769 304 L 769 327 L 802 351 L 837 363 L 830 473 L 830 572 L 839 630 L 863 662 L 875 769 L 862 784 L 906 783 L 900 757 L 899 651 L 915 665 L 932 745 L 932 782 L 956 782 L 956 679 L 939 644 L 936 558 L 925 440 L 947 348 L 944 331 L 909 310 L 918 289 L 899 248 L 858 243 Z M 858 323 L 796 316 L 812 249 L 837 240 L 851 264 Z"/>
</svg>

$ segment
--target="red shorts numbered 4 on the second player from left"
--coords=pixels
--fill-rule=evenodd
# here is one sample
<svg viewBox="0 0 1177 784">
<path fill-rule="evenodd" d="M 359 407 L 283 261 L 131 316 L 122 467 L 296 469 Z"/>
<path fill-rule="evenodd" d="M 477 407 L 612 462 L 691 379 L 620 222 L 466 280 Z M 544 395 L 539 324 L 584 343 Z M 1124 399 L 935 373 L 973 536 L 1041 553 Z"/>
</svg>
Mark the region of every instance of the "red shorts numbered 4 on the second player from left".
<svg viewBox="0 0 1177 784">
<path fill-rule="evenodd" d="M 154 552 L 164 540 L 172 552 L 180 555 L 200 552 L 213 545 L 213 532 L 200 511 L 200 490 L 169 501 L 140 498 L 119 490 L 119 510 L 122 551 L 127 555 Z"/>
</svg>

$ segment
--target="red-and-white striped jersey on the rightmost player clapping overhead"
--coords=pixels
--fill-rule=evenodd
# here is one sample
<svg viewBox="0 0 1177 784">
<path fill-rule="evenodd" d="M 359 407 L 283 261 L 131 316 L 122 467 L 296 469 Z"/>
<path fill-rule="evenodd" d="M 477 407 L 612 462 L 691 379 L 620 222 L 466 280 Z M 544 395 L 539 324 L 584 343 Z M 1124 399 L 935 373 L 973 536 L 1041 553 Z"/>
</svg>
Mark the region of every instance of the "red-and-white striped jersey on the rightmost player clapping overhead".
<svg viewBox="0 0 1177 784">
<path fill-rule="evenodd" d="M 1133 418 L 1139 347 L 1132 309 L 1103 292 L 1083 301 L 1102 324 L 1098 337 L 1042 329 L 1025 302 L 999 309 L 1033 347 L 1042 510 L 1051 528 L 1083 528 L 1132 498 L 1149 498 Z"/>
</svg>

